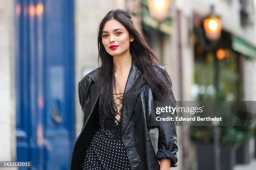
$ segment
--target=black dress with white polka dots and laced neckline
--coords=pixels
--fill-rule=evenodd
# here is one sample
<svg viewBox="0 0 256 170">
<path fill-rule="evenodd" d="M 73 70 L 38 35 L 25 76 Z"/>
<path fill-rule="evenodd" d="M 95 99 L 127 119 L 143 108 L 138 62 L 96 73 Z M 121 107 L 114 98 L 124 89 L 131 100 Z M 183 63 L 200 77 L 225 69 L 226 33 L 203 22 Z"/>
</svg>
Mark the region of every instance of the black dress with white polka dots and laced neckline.
<svg viewBox="0 0 256 170">
<path fill-rule="evenodd" d="M 118 124 L 110 120 L 98 107 L 100 129 L 92 136 L 85 152 L 83 170 L 131 170 L 121 139 L 122 119 Z M 109 110 L 108 110 L 109 112 Z"/>
</svg>

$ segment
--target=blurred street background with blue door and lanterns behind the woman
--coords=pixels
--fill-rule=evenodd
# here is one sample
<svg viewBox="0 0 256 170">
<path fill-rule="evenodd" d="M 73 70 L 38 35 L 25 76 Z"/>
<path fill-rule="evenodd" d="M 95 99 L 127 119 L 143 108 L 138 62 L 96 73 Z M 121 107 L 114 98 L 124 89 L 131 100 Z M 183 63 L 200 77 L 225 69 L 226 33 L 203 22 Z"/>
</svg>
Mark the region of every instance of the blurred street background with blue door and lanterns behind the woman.
<svg viewBox="0 0 256 170">
<path fill-rule="evenodd" d="M 69 169 L 78 82 L 98 67 L 97 28 L 116 8 L 165 64 L 177 101 L 256 100 L 256 0 L 0 0 L 0 161 Z M 177 132 L 172 169 L 256 169 L 253 127 Z"/>
</svg>

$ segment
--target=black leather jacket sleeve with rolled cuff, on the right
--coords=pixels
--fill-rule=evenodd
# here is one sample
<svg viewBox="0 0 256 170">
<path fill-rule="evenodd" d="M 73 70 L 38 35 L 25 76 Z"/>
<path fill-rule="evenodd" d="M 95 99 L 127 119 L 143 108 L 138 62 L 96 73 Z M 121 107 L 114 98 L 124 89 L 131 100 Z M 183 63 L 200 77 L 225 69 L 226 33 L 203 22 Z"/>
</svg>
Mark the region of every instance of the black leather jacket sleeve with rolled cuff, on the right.
<svg viewBox="0 0 256 170">
<path fill-rule="evenodd" d="M 166 87 L 170 92 L 171 97 L 171 106 L 176 106 L 176 99 L 172 89 L 172 82 L 169 79 L 169 76 L 166 74 L 165 68 L 159 71 L 159 76 L 164 81 Z M 156 114 L 156 113 L 154 113 Z M 172 115 L 175 117 L 176 112 Z M 166 115 L 158 114 L 155 117 L 166 117 Z M 175 121 L 158 121 L 157 128 L 159 130 L 158 136 L 158 151 L 156 153 L 156 159 L 161 160 L 162 158 L 168 158 L 171 160 L 171 167 L 177 167 L 177 133 L 176 133 L 176 122 Z"/>
</svg>

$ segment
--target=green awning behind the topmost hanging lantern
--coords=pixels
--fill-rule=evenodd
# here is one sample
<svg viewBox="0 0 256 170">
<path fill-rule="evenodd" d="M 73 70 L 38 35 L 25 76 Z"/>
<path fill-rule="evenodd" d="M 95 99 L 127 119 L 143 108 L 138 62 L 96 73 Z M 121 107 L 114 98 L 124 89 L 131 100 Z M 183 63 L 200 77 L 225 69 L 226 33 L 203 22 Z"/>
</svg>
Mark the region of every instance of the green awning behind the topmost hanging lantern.
<svg viewBox="0 0 256 170">
<path fill-rule="evenodd" d="M 155 20 L 148 11 L 148 2 L 147 0 L 142 1 L 142 22 L 143 24 L 158 30 L 160 32 L 163 32 L 167 35 L 172 34 L 172 18 L 169 16 L 165 20 L 158 22 Z"/>
</svg>

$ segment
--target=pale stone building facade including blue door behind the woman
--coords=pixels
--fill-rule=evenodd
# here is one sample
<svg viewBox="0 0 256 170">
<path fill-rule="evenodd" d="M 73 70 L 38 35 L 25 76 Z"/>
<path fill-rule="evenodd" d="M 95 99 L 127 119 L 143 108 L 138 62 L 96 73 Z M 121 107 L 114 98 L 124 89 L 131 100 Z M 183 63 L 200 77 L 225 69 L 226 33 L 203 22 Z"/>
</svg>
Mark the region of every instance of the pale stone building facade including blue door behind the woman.
<svg viewBox="0 0 256 170">
<path fill-rule="evenodd" d="M 145 0 L 2 0 L 0 2 L 0 160 L 32 160 L 36 169 L 69 169 L 83 114 L 77 85 L 97 64 L 97 29 L 113 9 L 131 13 L 136 29 L 163 62 L 177 101 L 195 100 L 195 16 L 210 5 L 220 15 L 230 47 L 242 58 L 243 99 L 256 91 L 255 0 L 171 0 L 158 25 Z M 179 126 L 177 170 L 195 161 L 188 127 Z M 151 134 L 157 150 L 157 133 Z M 61 144 L 61 145 L 60 145 Z M 251 142 L 252 144 L 252 142 Z M 58 149 L 59 147 L 59 149 Z M 67 148 L 63 152 L 55 152 Z M 64 158 L 62 158 L 63 156 Z M 56 157 L 60 157 L 56 165 Z"/>
</svg>

